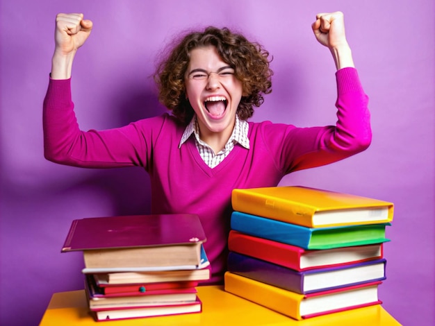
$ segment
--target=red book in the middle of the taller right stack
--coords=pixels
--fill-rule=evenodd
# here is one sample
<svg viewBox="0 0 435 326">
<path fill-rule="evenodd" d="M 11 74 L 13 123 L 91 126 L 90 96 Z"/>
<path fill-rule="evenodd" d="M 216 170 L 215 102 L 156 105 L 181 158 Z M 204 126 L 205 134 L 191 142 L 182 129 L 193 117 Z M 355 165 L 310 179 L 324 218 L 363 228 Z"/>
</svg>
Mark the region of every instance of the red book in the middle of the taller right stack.
<svg viewBox="0 0 435 326">
<path fill-rule="evenodd" d="M 325 250 L 305 250 L 235 230 L 229 232 L 228 247 L 230 251 L 263 259 L 295 271 L 354 264 L 383 257 L 382 243 Z"/>
</svg>

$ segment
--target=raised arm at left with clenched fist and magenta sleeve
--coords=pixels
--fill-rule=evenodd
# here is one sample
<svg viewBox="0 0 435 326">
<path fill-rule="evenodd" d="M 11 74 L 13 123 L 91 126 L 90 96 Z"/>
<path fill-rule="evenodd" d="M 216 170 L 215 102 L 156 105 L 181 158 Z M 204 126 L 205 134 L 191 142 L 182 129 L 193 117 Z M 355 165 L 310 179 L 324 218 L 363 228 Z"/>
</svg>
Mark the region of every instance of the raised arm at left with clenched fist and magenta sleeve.
<svg viewBox="0 0 435 326">
<path fill-rule="evenodd" d="M 44 157 L 59 164 L 92 168 L 147 166 L 152 121 L 87 132 L 80 130 L 76 121 L 72 62 L 91 29 L 92 22 L 84 20 L 82 14 L 56 16 L 56 45 L 43 108 Z"/>
</svg>

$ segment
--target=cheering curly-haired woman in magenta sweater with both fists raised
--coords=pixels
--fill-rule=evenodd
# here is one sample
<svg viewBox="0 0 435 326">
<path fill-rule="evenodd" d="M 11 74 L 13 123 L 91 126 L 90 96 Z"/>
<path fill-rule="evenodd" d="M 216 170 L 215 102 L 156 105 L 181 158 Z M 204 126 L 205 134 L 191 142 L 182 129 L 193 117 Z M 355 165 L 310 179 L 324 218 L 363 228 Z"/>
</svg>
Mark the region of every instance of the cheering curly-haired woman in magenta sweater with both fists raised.
<svg viewBox="0 0 435 326">
<path fill-rule="evenodd" d="M 87 168 L 142 166 L 151 178 L 152 214 L 199 215 L 212 267 L 209 284 L 220 283 L 232 189 L 274 187 L 288 173 L 342 160 L 370 144 L 368 97 L 354 69 L 343 14 L 318 14 L 312 28 L 337 67 L 336 126 L 247 121 L 271 92 L 269 53 L 227 28 L 208 27 L 183 35 L 158 65 L 159 98 L 172 114 L 84 132 L 76 123 L 70 78 L 92 22 L 59 14 L 44 100 L 45 157 Z"/>
</svg>

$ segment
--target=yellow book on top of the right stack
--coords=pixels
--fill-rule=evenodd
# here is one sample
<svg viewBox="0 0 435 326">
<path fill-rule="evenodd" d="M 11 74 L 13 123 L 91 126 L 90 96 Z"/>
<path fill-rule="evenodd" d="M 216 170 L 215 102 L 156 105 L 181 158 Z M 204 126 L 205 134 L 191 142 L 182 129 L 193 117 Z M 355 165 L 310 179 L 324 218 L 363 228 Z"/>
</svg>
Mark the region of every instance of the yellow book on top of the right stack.
<svg viewBox="0 0 435 326">
<path fill-rule="evenodd" d="M 231 202 L 235 211 L 306 228 L 393 220 L 393 203 L 301 186 L 234 189 Z"/>
</svg>

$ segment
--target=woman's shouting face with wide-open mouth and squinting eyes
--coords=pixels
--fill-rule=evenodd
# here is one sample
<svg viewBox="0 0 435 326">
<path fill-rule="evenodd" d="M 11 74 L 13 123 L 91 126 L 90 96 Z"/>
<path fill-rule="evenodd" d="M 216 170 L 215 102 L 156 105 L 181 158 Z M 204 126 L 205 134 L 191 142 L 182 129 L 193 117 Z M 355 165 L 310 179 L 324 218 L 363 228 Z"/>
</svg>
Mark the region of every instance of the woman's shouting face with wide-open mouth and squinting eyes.
<svg viewBox="0 0 435 326">
<path fill-rule="evenodd" d="M 215 46 L 190 51 L 186 71 L 186 96 L 197 114 L 201 138 L 213 134 L 230 137 L 243 85 L 217 53 Z"/>
</svg>

